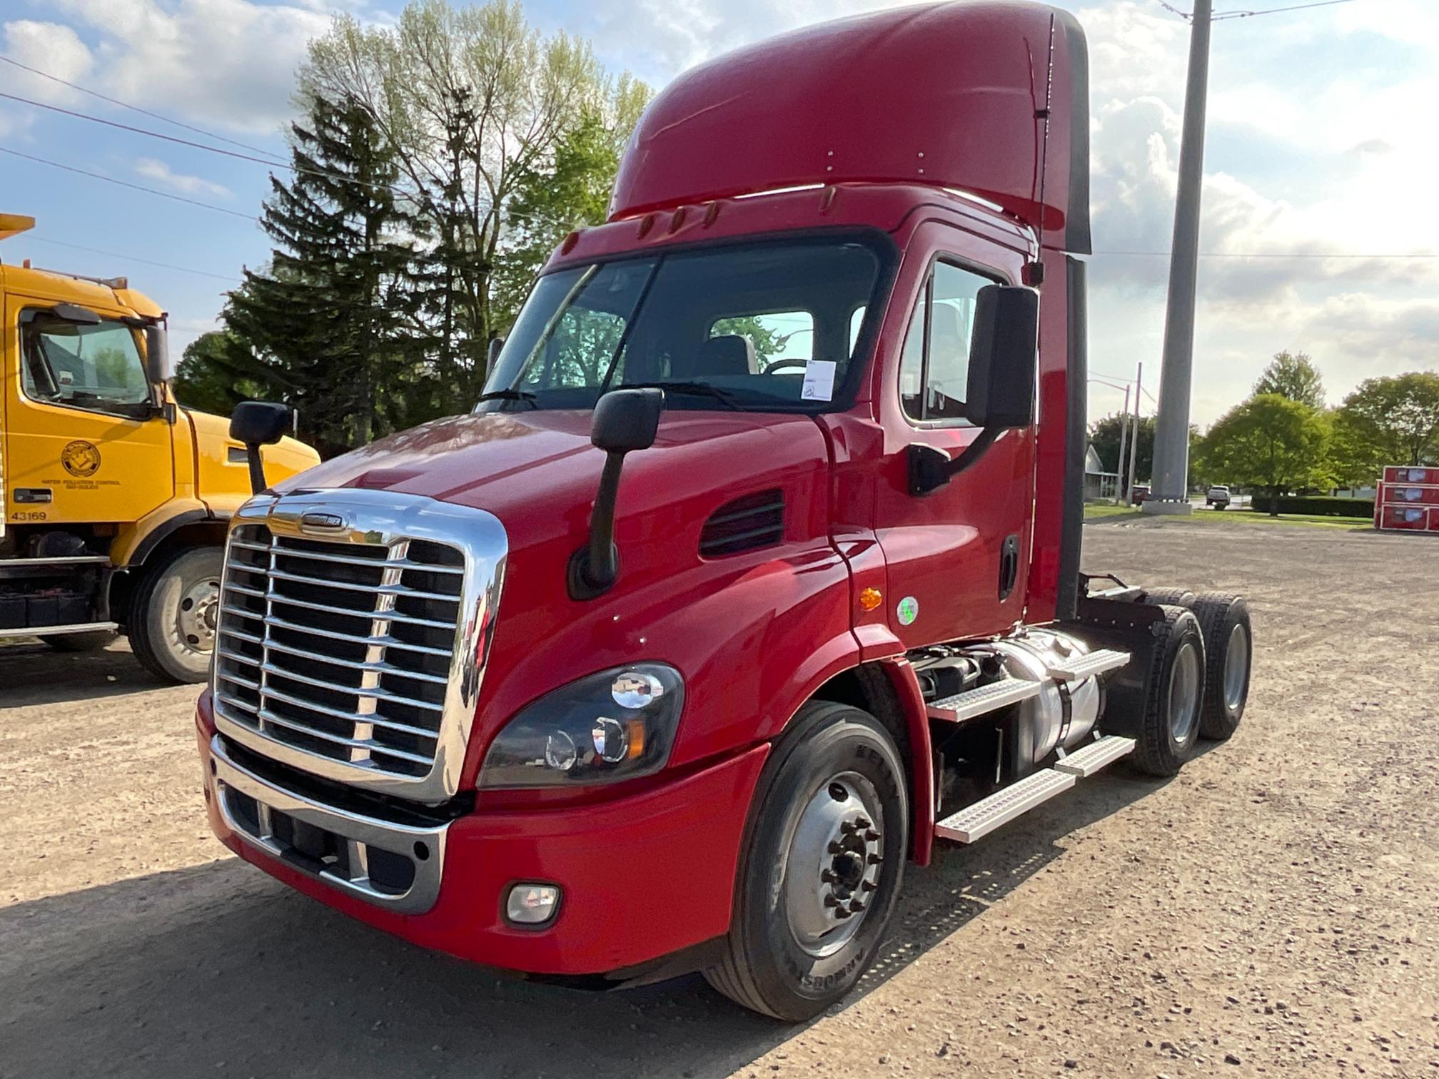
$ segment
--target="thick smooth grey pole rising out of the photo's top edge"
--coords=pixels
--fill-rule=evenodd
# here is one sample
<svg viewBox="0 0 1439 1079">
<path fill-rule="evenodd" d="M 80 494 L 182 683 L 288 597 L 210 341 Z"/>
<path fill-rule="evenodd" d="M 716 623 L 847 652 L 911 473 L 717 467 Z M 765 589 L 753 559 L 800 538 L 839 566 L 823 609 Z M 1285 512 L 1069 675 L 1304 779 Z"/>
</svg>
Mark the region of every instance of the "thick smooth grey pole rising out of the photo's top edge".
<svg viewBox="0 0 1439 1079">
<path fill-rule="evenodd" d="M 1164 312 L 1164 363 L 1154 427 L 1154 475 L 1145 514 L 1190 514 L 1189 394 L 1194 363 L 1194 279 L 1199 266 L 1199 197 L 1204 178 L 1204 95 L 1209 86 L 1212 0 L 1194 0 L 1189 32 L 1189 85 L 1179 147 L 1179 197 L 1170 246 L 1168 306 Z"/>
</svg>

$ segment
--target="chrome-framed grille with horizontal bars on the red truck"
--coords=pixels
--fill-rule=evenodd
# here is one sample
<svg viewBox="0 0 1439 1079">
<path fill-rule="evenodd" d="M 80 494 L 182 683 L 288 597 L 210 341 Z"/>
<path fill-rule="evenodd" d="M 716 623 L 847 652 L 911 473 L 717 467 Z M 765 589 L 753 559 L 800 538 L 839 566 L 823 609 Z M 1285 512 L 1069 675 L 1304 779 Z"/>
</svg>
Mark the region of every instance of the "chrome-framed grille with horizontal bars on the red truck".
<svg viewBox="0 0 1439 1079">
<path fill-rule="evenodd" d="M 321 502 L 337 512 L 317 514 Z M 305 514 L 347 525 L 307 534 Z M 443 535 L 465 515 L 492 525 L 479 557 L 466 531 Z M 419 527 L 406 529 L 404 518 Z M 481 511 L 386 492 L 246 505 L 222 584 L 213 682 L 222 734 L 350 783 L 422 800 L 453 794 L 476 650 L 482 665 L 498 601 L 495 531 L 502 538 Z"/>
</svg>

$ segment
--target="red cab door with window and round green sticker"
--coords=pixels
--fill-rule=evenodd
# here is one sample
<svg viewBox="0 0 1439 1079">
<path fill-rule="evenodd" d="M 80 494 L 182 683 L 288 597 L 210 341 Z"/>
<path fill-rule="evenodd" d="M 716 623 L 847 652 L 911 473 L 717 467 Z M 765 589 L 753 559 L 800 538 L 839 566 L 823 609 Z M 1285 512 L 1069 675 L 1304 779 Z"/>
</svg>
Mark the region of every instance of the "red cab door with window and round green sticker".
<svg viewBox="0 0 1439 1079">
<path fill-rule="evenodd" d="M 907 649 L 1002 633 L 1025 616 L 1035 429 L 1003 432 L 930 493 L 912 495 L 908 482 L 911 445 L 953 459 L 980 434 L 964 417 L 974 299 L 986 285 L 1016 283 L 1017 258 L 932 223 L 917 230 L 896 281 L 885 337 L 904 344 L 881 380 L 885 462 L 875 532 L 889 624 Z"/>
</svg>

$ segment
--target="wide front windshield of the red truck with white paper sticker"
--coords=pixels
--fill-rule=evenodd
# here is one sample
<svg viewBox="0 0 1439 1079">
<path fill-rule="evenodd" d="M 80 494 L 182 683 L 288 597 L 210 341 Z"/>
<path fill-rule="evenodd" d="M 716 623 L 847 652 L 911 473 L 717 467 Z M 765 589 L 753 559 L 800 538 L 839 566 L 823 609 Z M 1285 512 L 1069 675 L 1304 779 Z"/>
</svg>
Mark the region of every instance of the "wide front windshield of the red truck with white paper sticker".
<svg viewBox="0 0 1439 1079">
<path fill-rule="evenodd" d="M 803 240 L 548 273 L 481 407 L 589 409 L 604 390 L 656 384 L 676 409 L 825 407 L 855 361 L 879 265 L 865 243 Z"/>
</svg>

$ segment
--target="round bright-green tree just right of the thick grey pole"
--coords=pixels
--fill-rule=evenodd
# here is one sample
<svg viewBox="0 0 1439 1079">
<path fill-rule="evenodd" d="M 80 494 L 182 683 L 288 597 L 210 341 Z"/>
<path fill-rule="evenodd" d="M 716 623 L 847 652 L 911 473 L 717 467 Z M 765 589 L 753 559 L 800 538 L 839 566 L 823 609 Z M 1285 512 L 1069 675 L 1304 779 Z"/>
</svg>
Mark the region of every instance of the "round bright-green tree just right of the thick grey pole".
<svg viewBox="0 0 1439 1079">
<path fill-rule="evenodd" d="M 1202 468 L 1215 479 L 1268 488 L 1272 516 L 1278 496 L 1294 488 L 1328 486 L 1328 419 L 1308 404 L 1262 393 L 1215 420 L 1199 445 Z"/>
</svg>

